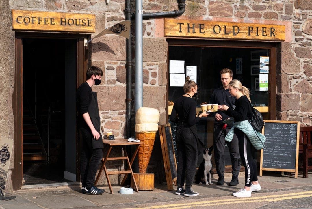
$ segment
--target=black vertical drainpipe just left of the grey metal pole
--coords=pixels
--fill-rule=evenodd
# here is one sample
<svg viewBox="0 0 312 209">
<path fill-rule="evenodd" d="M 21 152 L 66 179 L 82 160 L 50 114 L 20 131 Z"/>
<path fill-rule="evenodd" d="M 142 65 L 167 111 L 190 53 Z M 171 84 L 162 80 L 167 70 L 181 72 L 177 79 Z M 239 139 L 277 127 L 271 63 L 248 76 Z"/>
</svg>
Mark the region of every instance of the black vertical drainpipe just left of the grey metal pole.
<svg viewBox="0 0 312 209">
<path fill-rule="evenodd" d="M 126 8 L 124 10 L 126 13 L 126 20 L 131 20 L 131 3 L 130 0 L 126 1 Z M 131 137 L 131 86 L 132 86 L 132 50 L 131 50 L 131 29 L 129 39 L 126 39 L 126 136 L 127 139 Z"/>
</svg>

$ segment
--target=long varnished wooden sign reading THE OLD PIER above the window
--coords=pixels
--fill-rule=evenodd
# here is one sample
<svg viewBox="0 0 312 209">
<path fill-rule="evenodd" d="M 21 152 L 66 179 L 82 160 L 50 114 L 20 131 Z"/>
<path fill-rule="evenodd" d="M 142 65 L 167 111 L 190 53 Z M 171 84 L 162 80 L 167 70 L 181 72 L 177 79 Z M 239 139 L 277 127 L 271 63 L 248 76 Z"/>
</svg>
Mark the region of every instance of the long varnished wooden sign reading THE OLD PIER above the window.
<svg viewBox="0 0 312 209">
<path fill-rule="evenodd" d="M 165 19 L 164 36 L 285 41 L 285 25 Z"/>
</svg>

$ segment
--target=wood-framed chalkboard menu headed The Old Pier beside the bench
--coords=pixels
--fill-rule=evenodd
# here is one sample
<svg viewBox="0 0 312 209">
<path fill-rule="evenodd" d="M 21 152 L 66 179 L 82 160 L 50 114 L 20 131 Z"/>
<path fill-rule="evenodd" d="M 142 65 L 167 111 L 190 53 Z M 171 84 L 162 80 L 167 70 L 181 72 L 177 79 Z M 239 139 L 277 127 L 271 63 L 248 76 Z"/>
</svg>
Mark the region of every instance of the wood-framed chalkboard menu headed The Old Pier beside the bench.
<svg viewBox="0 0 312 209">
<path fill-rule="evenodd" d="M 264 120 L 262 134 L 266 136 L 261 149 L 260 176 L 262 171 L 295 172 L 298 177 L 299 131 L 298 121 Z"/>
</svg>

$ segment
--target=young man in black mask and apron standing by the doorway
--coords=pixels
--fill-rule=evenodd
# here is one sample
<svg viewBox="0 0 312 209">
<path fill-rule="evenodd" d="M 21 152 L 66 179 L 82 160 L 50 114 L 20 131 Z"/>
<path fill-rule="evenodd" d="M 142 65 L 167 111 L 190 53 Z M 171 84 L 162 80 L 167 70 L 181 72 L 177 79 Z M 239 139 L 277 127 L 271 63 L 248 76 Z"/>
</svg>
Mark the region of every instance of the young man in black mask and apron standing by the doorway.
<svg viewBox="0 0 312 209">
<path fill-rule="evenodd" d="M 96 66 L 87 70 L 87 80 L 77 91 L 77 108 L 79 113 L 79 129 L 82 135 L 80 155 L 81 192 L 84 194 L 100 195 L 104 189 L 94 186 L 95 174 L 103 157 L 103 141 L 100 134 L 100 116 L 96 92 L 93 85 L 101 83 L 103 72 Z"/>
</svg>

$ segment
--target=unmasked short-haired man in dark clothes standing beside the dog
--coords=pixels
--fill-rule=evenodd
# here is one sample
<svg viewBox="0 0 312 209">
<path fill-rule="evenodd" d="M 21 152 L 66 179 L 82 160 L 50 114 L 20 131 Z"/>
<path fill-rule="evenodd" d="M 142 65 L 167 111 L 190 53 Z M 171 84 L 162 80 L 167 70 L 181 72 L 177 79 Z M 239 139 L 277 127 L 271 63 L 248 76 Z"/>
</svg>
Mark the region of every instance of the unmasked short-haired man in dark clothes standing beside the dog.
<svg viewBox="0 0 312 209">
<path fill-rule="evenodd" d="M 235 103 L 235 97 L 232 97 L 229 93 L 228 85 L 233 77 L 232 70 L 224 68 L 220 72 L 222 86 L 213 91 L 210 103 L 218 105 L 227 105 L 233 107 Z M 219 176 L 217 185 L 224 184 L 224 149 L 225 149 L 225 136 L 228 131 L 232 128 L 227 125 L 224 127 L 223 120 L 229 118 L 227 114 L 223 111 L 218 111 L 217 113 L 212 113 L 214 116 L 214 158 L 216 163 L 217 174 Z M 225 128 L 225 129 L 224 129 Z M 238 149 L 238 139 L 236 134 L 234 134 L 233 140 L 231 143 L 227 142 L 227 146 L 230 151 L 231 162 L 232 162 L 232 180 L 229 183 L 229 186 L 236 186 L 238 184 L 238 174 L 241 168 L 240 155 Z"/>
</svg>

